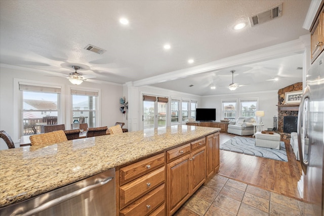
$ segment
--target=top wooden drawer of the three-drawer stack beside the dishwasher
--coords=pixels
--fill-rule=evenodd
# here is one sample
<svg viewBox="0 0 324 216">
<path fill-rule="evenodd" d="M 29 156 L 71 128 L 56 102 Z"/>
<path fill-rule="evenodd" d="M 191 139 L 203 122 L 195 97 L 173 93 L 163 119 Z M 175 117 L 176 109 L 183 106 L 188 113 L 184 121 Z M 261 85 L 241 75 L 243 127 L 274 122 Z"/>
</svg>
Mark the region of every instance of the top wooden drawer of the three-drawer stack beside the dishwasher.
<svg viewBox="0 0 324 216">
<path fill-rule="evenodd" d="M 137 163 L 120 168 L 119 181 L 120 185 L 124 185 L 137 177 L 164 165 L 166 163 L 165 153 L 161 153 L 150 158 L 141 160 Z"/>
</svg>

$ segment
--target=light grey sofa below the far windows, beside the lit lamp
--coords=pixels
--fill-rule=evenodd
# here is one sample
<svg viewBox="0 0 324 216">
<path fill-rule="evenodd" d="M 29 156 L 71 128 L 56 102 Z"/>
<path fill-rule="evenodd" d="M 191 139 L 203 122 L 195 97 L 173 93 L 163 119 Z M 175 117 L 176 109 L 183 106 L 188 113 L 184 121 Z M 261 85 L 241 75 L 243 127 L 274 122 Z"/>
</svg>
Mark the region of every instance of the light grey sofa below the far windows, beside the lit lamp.
<svg viewBox="0 0 324 216">
<path fill-rule="evenodd" d="M 236 134 L 239 136 L 247 136 L 254 134 L 253 117 L 239 117 L 236 121 L 230 121 L 227 128 L 227 133 Z"/>
</svg>

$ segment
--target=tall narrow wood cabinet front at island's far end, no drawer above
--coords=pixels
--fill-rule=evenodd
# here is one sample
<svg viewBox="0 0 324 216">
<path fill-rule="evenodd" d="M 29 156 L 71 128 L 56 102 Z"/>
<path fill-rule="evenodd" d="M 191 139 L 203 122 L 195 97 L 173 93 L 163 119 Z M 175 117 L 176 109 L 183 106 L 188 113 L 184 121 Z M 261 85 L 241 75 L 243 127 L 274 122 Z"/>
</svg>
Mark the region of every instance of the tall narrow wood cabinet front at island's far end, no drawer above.
<svg viewBox="0 0 324 216">
<path fill-rule="evenodd" d="M 206 177 L 210 178 L 219 170 L 219 132 L 206 137 Z"/>
</svg>

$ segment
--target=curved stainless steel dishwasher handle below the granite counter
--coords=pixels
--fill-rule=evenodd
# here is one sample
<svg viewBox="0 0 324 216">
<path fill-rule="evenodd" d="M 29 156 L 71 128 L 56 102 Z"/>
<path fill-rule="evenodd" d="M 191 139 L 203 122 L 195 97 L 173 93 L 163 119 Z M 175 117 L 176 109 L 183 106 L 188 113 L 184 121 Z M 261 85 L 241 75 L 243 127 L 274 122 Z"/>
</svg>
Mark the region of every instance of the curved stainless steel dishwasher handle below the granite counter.
<svg viewBox="0 0 324 216">
<path fill-rule="evenodd" d="M 59 204 L 61 202 L 64 202 L 64 201 L 69 200 L 69 199 L 71 199 L 73 197 L 76 197 L 78 195 L 81 195 L 83 193 L 86 193 L 88 191 L 91 191 L 91 190 L 93 190 L 95 188 L 98 188 L 98 187 L 100 187 L 102 185 L 105 185 L 108 182 L 110 182 L 112 179 L 113 179 L 113 177 L 108 177 L 106 179 L 101 179 L 101 180 L 99 180 L 95 184 L 89 185 L 87 187 L 84 187 L 84 188 L 81 188 L 79 190 L 76 190 L 76 191 L 74 191 L 72 193 L 69 193 L 69 194 L 60 196 L 60 197 L 58 197 L 56 199 L 50 200 L 50 201 L 48 201 L 48 202 L 46 202 L 46 203 L 44 203 L 42 205 L 39 205 L 39 206 L 37 206 L 37 207 L 35 207 L 35 208 L 33 208 L 33 209 L 25 212 L 25 213 L 22 213 L 22 214 L 13 214 L 13 215 L 17 215 L 17 216 L 29 216 L 29 215 L 36 214 L 36 213 L 41 212 L 41 211 L 43 211 L 43 210 L 45 210 L 47 208 L 53 207 L 54 205 L 57 205 L 57 204 Z"/>
</svg>

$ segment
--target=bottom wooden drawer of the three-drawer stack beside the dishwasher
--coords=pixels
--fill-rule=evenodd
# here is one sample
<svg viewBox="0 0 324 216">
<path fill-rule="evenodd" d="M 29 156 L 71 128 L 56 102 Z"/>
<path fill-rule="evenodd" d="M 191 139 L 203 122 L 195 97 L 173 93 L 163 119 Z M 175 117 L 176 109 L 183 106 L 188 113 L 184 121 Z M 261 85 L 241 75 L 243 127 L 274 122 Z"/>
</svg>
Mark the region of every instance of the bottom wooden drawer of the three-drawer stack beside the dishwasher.
<svg viewBox="0 0 324 216">
<path fill-rule="evenodd" d="M 145 196 L 120 210 L 121 216 L 148 215 L 165 201 L 165 184 L 155 188 Z"/>
</svg>

